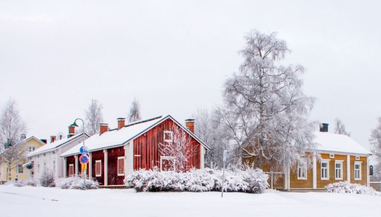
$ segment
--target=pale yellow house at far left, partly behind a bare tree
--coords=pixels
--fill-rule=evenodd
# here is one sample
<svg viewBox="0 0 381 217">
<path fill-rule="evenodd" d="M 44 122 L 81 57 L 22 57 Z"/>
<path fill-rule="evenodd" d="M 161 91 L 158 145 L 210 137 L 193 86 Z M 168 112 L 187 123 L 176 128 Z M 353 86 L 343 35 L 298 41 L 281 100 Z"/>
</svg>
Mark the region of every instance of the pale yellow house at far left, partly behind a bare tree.
<svg viewBox="0 0 381 217">
<path fill-rule="evenodd" d="M 26 155 L 32 151 L 38 149 L 39 147 L 45 145 L 45 143 L 34 136 L 26 138 L 25 134 L 20 136 L 20 142 L 16 144 L 18 151 L 22 152 L 24 156 L 21 161 L 17 162 L 15 167 L 9 171 L 8 165 L 5 162 L 0 162 L 0 184 L 6 182 L 7 180 L 27 180 L 31 177 L 32 171 L 23 167 L 26 163 Z"/>
</svg>

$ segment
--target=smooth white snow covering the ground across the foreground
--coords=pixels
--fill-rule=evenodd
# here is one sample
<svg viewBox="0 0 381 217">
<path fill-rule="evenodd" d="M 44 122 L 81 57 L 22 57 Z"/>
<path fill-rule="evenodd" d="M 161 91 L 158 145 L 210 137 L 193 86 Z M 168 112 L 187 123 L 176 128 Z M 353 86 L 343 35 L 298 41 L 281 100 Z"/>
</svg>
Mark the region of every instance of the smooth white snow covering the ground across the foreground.
<svg viewBox="0 0 381 217">
<path fill-rule="evenodd" d="M 325 192 L 264 194 L 73 190 L 0 186 L 1 216 L 12 217 L 380 217 L 381 197 Z"/>
</svg>

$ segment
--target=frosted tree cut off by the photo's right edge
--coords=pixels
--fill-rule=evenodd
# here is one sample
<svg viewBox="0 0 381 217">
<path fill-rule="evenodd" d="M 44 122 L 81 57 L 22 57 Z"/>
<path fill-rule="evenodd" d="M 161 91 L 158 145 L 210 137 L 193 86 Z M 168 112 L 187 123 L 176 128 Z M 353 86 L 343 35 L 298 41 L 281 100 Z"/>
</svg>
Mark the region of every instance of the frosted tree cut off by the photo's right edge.
<svg viewBox="0 0 381 217">
<path fill-rule="evenodd" d="M 376 159 L 377 164 L 374 166 L 372 181 L 381 180 L 381 117 L 378 118 L 376 128 L 372 129 L 369 139 L 373 157 Z"/>
</svg>

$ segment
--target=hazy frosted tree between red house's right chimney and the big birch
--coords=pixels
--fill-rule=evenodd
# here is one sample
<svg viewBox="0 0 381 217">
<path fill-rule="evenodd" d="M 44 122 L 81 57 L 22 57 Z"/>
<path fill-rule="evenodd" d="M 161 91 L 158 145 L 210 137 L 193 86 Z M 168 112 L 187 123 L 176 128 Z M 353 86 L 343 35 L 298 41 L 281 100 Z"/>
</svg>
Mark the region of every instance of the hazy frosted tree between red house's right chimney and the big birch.
<svg viewBox="0 0 381 217">
<path fill-rule="evenodd" d="M 221 117 L 216 110 L 208 111 L 206 109 L 198 109 L 192 116 L 196 120 L 195 135 L 210 147 L 210 150 L 205 154 L 205 164 L 221 167 L 223 150 L 231 150 L 227 142 L 225 125 L 221 123 Z M 229 157 L 229 160 L 233 159 Z"/>
</svg>

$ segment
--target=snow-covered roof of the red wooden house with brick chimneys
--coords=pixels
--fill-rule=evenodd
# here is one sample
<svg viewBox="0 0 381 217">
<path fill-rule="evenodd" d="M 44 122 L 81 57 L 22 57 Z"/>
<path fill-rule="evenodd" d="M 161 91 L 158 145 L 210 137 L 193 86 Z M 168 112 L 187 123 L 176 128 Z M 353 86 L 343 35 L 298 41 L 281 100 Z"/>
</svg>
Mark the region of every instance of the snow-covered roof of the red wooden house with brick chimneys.
<svg viewBox="0 0 381 217">
<path fill-rule="evenodd" d="M 150 119 L 146 119 L 146 120 L 142 120 L 142 121 L 133 122 L 133 123 L 125 125 L 125 127 L 121 128 L 120 130 L 114 129 L 114 130 L 106 131 L 106 132 L 102 133 L 102 135 L 95 134 L 94 136 L 85 140 L 85 146 L 89 148 L 90 152 L 105 149 L 105 148 L 121 146 L 121 145 L 129 142 L 130 140 L 133 140 L 133 139 L 139 137 L 140 135 L 142 135 L 146 131 L 150 130 L 151 128 L 155 127 L 156 125 L 158 125 L 161 122 L 170 118 L 176 124 L 181 126 L 184 130 L 186 130 L 195 140 L 197 140 L 202 145 L 204 145 L 207 149 L 209 149 L 209 147 L 203 141 L 198 139 L 186 127 L 179 124 L 170 115 L 167 115 L 164 118 L 161 118 L 161 117 L 162 116 L 158 116 L 155 118 L 150 118 Z M 79 143 L 78 145 L 74 146 L 73 148 L 67 150 L 61 156 L 77 155 L 77 154 L 79 154 L 79 148 L 81 146 L 83 146 L 82 142 Z"/>
</svg>

